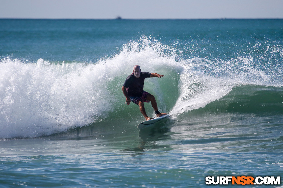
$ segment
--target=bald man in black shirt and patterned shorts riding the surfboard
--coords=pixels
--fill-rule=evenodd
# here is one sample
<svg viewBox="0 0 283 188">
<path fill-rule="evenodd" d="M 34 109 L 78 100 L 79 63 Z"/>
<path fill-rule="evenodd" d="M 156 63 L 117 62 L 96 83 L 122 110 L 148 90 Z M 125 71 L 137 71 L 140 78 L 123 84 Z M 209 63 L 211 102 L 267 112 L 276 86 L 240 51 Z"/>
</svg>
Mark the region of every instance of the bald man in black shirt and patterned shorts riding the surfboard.
<svg viewBox="0 0 283 188">
<path fill-rule="evenodd" d="M 151 102 L 151 105 L 155 111 L 156 117 L 165 115 L 166 113 L 160 113 L 158 111 L 157 103 L 155 97 L 148 92 L 143 90 L 143 84 L 145 78 L 158 77 L 161 78 L 164 75 L 157 73 L 141 72 L 140 66 L 135 65 L 133 73 L 130 74 L 125 80 L 122 87 L 123 94 L 126 97 L 126 104 L 129 105 L 130 101 L 140 106 L 141 114 L 145 117 L 145 120 L 151 120 L 154 118 L 149 118 L 145 112 L 143 102 Z"/>
</svg>

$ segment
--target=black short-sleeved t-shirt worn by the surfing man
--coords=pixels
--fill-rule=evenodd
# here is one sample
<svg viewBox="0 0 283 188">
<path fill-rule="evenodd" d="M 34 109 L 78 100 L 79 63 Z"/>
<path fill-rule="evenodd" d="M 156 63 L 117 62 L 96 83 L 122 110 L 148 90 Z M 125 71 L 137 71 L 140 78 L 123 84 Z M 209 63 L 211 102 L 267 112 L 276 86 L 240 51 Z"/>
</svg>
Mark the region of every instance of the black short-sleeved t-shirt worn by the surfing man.
<svg viewBox="0 0 283 188">
<path fill-rule="evenodd" d="M 149 78 L 151 73 L 141 72 L 140 77 L 136 78 L 134 73 L 128 76 L 125 80 L 124 87 L 127 88 L 127 93 L 129 96 L 140 97 L 143 92 L 144 79 Z"/>
</svg>

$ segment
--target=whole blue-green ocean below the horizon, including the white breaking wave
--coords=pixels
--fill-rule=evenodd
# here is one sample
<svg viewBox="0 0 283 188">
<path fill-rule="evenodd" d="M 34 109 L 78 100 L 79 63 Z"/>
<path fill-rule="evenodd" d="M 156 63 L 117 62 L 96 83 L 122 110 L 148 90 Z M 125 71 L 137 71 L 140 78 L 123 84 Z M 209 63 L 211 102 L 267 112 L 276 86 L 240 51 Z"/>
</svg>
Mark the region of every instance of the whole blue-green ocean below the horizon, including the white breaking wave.
<svg viewBox="0 0 283 188">
<path fill-rule="evenodd" d="M 171 114 L 141 131 L 136 64 Z M 0 187 L 282 187 L 283 20 L 0 19 L 0 130 Z"/>
</svg>

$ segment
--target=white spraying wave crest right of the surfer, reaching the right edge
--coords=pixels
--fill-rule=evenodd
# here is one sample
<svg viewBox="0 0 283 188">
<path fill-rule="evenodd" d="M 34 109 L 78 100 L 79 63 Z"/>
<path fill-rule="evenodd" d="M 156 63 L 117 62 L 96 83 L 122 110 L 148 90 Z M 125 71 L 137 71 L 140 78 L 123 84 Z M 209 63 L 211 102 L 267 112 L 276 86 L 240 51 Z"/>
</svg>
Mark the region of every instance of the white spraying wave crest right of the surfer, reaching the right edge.
<svg viewBox="0 0 283 188">
<path fill-rule="evenodd" d="M 238 57 L 232 61 L 211 61 L 192 58 L 181 61 L 183 71 L 179 80 L 179 98 L 170 114 L 182 114 L 205 107 L 227 96 L 240 85 L 283 85 L 280 64 L 274 71 L 265 70 L 265 64 L 254 66 L 254 59 Z M 281 67 L 281 68 L 280 68 Z"/>
</svg>

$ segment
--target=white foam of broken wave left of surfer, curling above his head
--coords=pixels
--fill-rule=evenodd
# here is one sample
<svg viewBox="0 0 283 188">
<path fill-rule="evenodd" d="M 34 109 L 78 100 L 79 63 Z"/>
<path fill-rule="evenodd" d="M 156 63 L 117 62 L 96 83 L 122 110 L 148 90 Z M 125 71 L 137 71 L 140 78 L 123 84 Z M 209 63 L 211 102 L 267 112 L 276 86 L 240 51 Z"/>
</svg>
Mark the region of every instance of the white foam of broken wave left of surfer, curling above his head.
<svg viewBox="0 0 283 188">
<path fill-rule="evenodd" d="M 176 67 L 164 50 L 171 49 L 143 37 L 95 64 L 1 59 L 0 138 L 49 135 L 97 121 L 124 104 L 121 87 L 135 64 L 148 72 Z"/>
</svg>

